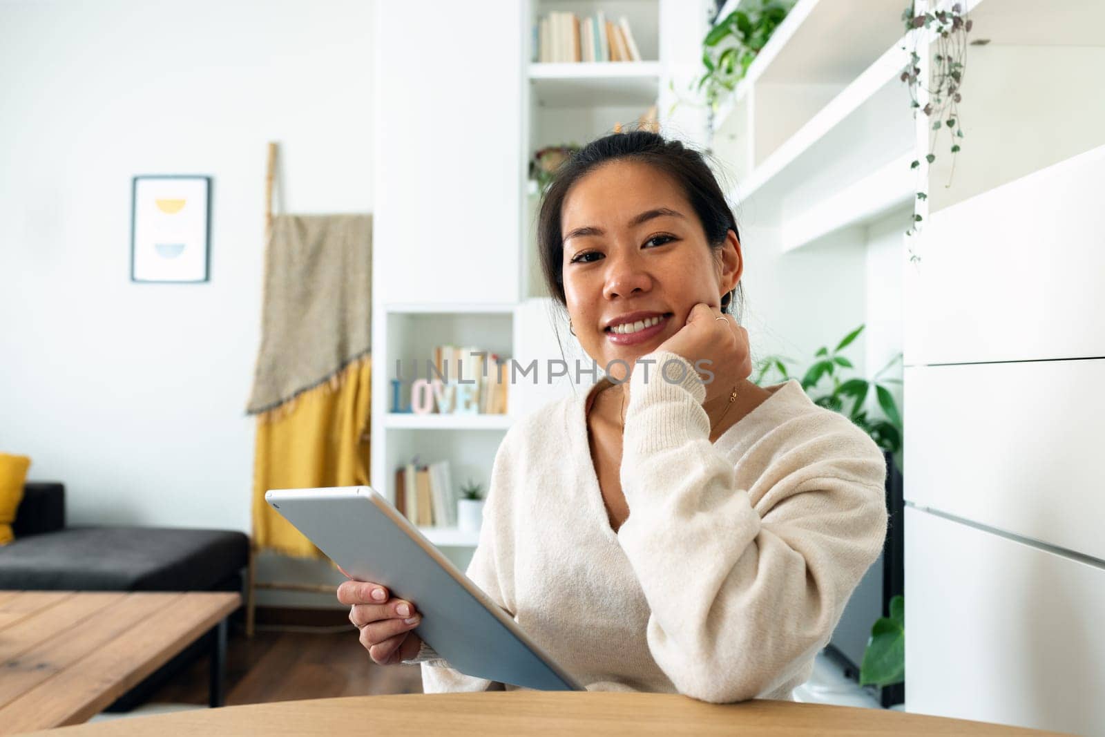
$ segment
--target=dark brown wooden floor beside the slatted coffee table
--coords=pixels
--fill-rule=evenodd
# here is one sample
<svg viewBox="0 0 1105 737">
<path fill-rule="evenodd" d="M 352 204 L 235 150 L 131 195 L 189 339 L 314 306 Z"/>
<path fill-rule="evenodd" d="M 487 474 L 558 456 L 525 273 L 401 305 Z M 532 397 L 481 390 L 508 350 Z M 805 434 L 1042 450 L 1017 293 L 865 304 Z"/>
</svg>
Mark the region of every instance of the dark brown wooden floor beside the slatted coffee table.
<svg viewBox="0 0 1105 737">
<path fill-rule="evenodd" d="M 210 667 L 204 655 L 150 703 L 208 703 Z M 357 641 L 357 630 L 329 633 L 256 631 L 253 639 L 233 632 L 227 647 L 227 705 L 298 698 L 420 694 L 418 665 L 377 665 Z"/>
</svg>

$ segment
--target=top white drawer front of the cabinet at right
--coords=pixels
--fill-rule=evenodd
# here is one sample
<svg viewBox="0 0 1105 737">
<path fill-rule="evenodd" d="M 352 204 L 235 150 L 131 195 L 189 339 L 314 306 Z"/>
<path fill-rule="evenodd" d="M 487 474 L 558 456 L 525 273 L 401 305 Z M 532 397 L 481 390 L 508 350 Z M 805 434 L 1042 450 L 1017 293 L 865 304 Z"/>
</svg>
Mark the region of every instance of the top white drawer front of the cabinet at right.
<svg viewBox="0 0 1105 737">
<path fill-rule="evenodd" d="M 905 364 L 1105 356 L 1105 147 L 932 215 Z"/>
</svg>

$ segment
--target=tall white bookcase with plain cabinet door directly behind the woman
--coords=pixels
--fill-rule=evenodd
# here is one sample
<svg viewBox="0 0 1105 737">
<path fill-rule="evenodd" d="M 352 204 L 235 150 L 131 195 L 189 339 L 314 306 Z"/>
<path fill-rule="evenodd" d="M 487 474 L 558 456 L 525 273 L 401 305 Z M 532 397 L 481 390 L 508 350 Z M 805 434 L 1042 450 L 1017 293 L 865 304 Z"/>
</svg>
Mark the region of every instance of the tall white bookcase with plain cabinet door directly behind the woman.
<svg viewBox="0 0 1105 737">
<path fill-rule="evenodd" d="M 555 329 L 555 313 L 536 273 L 530 154 L 547 145 L 585 144 L 615 123 L 636 120 L 656 103 L 667 70 L 661 13 L 680 13 L 697 1 L 529 0 L 475 17 L 467 6 L 444 3 L 428 29 L 422 29 L 423 13 L 409 3 L 378 7 L 378 28 L 388 29 L 378 35 L 378 60 L 408 56 L 410 38 L 431 44 L 434 59 L 451 60 L 449 81 L 420 59 L 378 63 L 383 73 L 376 101 L 371 476 L 390 498 L 396 470 L 415 454 L 423 462 L 448 459 L 454 482 L 472 478 L 486 488 L 498 445 L 519 413 L 571 389 L 567 382 L 519 382 L 509 389 L 506 415 L 413 414 L 393 411 L 391 379 L 397 359 L 399 373 L 409 378 L 412 361 L 424 366 L 441 344 L 477 346 L 523 365 L 562 357 L 561 345 L 570 338 Z M 628 18 L 643 61 L 534 61 L 532 29 L 538 17 L 551 10 L 590 15 L 600 9 L 614 21 Z M 692 46 L 702 30 L 696 29 Z M 434 38 L 425 39 L 425 32 Z M 473 36 L 481 43 L 472 44 Z M 463 69 L 453 70 L 454 62 Z M 472 101 L 471 88 L 455 85 L 455 78 L 484 82 L 476 86 L 478 115 L 445 114 L 450 104 L 469 109 Z M 444 128 L 430 129 L 443 116 L 448 135 Z M 441 161 L 459 175 L 428 180 L 418 173 L 415 181 L 420 168 L 440 168 Z M 412 301 L 419 294 L 424 301 Z M 409 386 L 403 382 L 403 402 Z M 477 540 L 452 528 L 422 531 L 462 566 Z"/>
</svg>

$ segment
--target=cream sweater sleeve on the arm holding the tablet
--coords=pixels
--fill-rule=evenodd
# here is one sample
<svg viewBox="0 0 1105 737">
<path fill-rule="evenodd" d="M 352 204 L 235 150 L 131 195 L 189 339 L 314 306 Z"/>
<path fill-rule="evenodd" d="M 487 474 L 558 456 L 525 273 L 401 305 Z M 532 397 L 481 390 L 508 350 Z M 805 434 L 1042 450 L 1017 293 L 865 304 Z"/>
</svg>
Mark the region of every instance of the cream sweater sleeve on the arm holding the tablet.
<svg viewBox="0 0 1105 737">
<path fill-rule="evenodd" d="M 483 520 L 480 525 L 480 539 L 464 573 L 504 611 L 514 617 L 509 607 L 513 589 L 506 585 L 507 570 L 504 569 L 499 558 L 504 543 L 498 539 L 509 530 L 509 526 L 505 523 L 505 517 L 509 514 L 506 498 L 508 488 L 504 488 L 508 486 L 506 474 L 509 464 L 506 459 L 509 438 L 508 432 L 495 454 L 491 484 L 484 502 Z M 453 668 L 425 642 L 414 657 L 403 663 L 418 663 L 422 666 L 422 692 L 427 694 L 505 689 L 504 684 L 497 681 L 465 675 Z"/>
</svg>

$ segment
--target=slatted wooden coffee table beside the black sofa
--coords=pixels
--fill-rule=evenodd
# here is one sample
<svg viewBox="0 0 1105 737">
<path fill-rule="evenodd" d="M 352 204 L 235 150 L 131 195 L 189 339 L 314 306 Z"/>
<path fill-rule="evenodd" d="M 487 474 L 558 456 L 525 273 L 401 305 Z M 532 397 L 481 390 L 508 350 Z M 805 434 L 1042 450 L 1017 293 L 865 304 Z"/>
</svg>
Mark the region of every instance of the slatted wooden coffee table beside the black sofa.
<svg viewBox="0 0 1105 737">
<path fill-rule="evenodd" d="M 80 724 L 209 630 L 211 705 L 224 692 L 238 593 L 0 591 L 0 735 Z"/>
</svg>

